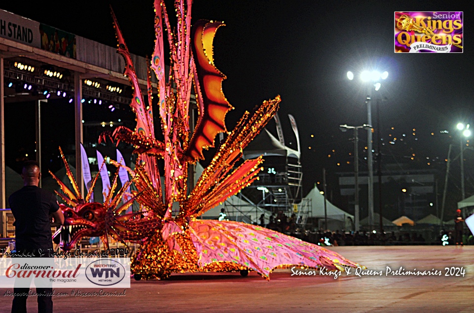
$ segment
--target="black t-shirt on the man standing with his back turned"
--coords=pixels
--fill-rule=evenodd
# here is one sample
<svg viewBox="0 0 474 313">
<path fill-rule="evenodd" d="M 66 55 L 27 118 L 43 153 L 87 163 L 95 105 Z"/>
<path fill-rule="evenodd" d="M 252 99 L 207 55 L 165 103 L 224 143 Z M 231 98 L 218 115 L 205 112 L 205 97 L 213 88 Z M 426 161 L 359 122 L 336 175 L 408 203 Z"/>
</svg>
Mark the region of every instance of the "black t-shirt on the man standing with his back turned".
<svg viewBox="0 0 474 313">
<path fill-rule="evenodd" d="M 15 218 L 16 250 L 52 249 L 49 215 L 59 210 L 56 197 L 37 186 L 24 186 L 8 198 Z"/>
</svg>

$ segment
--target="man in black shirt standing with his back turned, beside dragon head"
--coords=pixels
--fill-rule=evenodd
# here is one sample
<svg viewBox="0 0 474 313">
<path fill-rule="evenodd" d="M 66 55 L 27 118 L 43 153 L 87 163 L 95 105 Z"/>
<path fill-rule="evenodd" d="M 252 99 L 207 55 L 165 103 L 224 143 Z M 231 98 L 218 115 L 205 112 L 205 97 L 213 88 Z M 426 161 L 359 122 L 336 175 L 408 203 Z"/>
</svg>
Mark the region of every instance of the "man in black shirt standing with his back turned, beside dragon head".
<svg viewBox="0 0 474 313">
<path fill-rule="evenodd" d="M 64 215 L 56 197 L 38 187 L 41 173 L 37 162 L 27 161 L 23 166 L 21 177 L 24 182 L 23 188 L 8 198 L 11 213 L 15 218 L 16 251 L 19 254 L 33 253 L 35 257 L 40 258 L 39 249 L 41 249 L 42 253 L 48 256 L 48 249 L 53 248 L 49 215 L 52 215 L 54 221 L 59 224 L 64 223 Z M 12 313 L 26 313 L 28 291 L 29 288 L 14 288 L 13 292 L 21 296 L 15 296 L 13 299 Z M 49 296 L 38 296 L 38 312 L 52 313 L 52 288 L 37 288 L 37 293 L 49 294 Z"/>
</svg>

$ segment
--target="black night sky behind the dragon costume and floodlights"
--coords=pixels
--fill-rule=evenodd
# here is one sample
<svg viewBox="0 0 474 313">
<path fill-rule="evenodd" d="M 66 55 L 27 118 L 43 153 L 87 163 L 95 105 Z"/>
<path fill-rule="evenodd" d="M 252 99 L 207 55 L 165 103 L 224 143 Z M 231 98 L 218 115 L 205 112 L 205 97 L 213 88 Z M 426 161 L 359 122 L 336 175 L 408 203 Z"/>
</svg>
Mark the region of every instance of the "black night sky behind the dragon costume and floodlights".
<svg viewBox="0 0 474 313">
<path fill-rule="evenodd" d="M 151 0 L 32 1 L 28 5 L 3 1 L 0 8 L 115 46 L 111 2 L 129 50 L 151 55 Z M 172 10 L 172 1 L 166 3 Z M 279 116 L 285 141 L 292 148 L 296 149 L 296 140 L 287 114 L 296 118 L 300 132 L 304 192 L 322 180 L 325 167 L 328 189 L 337 194 L 336 173 L 353 169 L 352 133 L 342 133 L 338 126 L 366 123 L 366 91 L 360 80 L 347 79 L 348 70 L 389 72 L 380 90 L 388 99 L 380 107 L 382 137 L 387 142 L 389 134 L 398 139 L 406 136 L 403 143 L 398 140 L 382 147 L 384 162 L 403 167 L 410 161 L 410 151 L 416 150 L 415 168 L 444 173 L 448 145 L 458 142 L 456 123 L 474 125 L 472 36 L 467 37 L 464 53 L 394 53 L 394 11 L 464 10 L 469 30 L 473 22 L 466 9 L 446 1 L 196 0 L 192 16 L 194 21 L 226 23 L 214 40 L 214 59 L 227 75 L 223 90 L 236 108 L 227 115 L 228 129 L 244 110 L 280 94 Z M 375 113 L 374 108 L 373 124 Z M 276 134 L 273 122 L 269 129 Z M 449 134 L 441 134 L 443 130 Z M 360 137 L 363 147 L 366 135 Z M 473 155 L 466 153 L 467 196 L 472 195 L 468 190 L 474 191 Z M 431 159 L 435 161 L 428 165 Z M 363 167 L 361 163 L 362 171 Z"/>
</svg>

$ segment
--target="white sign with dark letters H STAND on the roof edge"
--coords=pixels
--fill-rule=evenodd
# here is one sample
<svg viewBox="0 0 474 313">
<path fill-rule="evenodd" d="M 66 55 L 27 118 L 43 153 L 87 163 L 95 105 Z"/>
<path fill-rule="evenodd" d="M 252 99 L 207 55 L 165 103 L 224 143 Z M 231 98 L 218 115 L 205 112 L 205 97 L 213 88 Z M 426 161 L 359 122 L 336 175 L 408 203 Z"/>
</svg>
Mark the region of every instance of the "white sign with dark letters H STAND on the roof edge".
<svg viewBox="0 0 474 313">
<path fill-rule="evenodd" d="M 40 47 L 40 23 L 0 9 L 0 37 Z"/>
</svg>

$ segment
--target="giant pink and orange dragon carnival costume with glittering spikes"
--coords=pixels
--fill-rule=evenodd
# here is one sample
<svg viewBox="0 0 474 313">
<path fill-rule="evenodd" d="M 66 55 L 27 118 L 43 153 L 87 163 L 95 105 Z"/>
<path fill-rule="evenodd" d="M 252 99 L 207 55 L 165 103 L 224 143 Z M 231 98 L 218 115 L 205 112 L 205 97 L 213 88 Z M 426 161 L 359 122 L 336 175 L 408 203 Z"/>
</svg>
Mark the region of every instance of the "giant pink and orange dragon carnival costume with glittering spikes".
<svg viewBox="0 0 474 313">
<path fill-rule="evenodd" d="M 264 101 L 255 112 L 245 112 L 234 130 L 228 132 L 225 116 L 232 106 L 222 93 L 225 76 L 213 62 L 213 38 L 222 22 L 196 21 L 191 27 L 191 2 L 177 0 L 176 31 L 172 32 L 163 0 L 155 0 L 156 44 L 151 69 L 158 78 L 158 119 L 163 140 L 155 135 L 153 107 L 146 107 L 144 97 L 130 58 L 128 48 L 115 15 L 118 53 L 125 61 L 133 96 L 130 106 L 136 114 L 134 130 L 118 127 L 105 133 L 116 143 L 124 141 L 134 146 L 138 155 L 135 170 L 116 162 L 118 171 L 104 203 L 89 203 L 90 192 L 82 197 L 69 171 L 73 189 L 57 179 L 64 192 L 58 195 L 65 226 L 61 246 L 72 249 L 82 236 L 100 236 L 104 245 L 111 239 L 127 245 L 140 243 L 131 268 L 137 279 L 166 278 L 176 271 L 254 270 L 269 278 L 274 268 L 292 266 L 344 270 L 358 265 L 337 253 L 299 239 L 250 224 L 199 220 L 197 217 L 257 180 L 262 170 L 262 156 L 246 159 L 237 168 L 243 149 L 274 116 L 280 97 Z M 170 73 L 164 74 L 164 34 L 170 47 Z M 189 110 L 191 89 L 195 89 L 199 118 L 194 132 L 190 129 Z M 152 103 L 154 86 L 148 80 L 148 98 Z M 217 149 L 210 164 L 203 170 L 195 187 L 188 193 L 188 166 L 203 159 L 202 150 L 214 146 L 217 134 L 227 138 Z M 164 161 L 164 181 L 161 183 L 158 160 Z M 103 166 L 103 164 L 102 164 Z M 125 168 L 132 179 L 117 191 L 119 171 Z M 100 171 L 99 171 L 100 172 Z M 52 174 L 52 173 L 51 173 Z M 98 175 L 91 183 L 89 191 Z M 137 192 L 122 203 L 121 198 L 134 183 Z M 117 192 L 116 192 L 117 191 Z M 144 208 L 141 212 L 123 214 L 134 201 Z M 173 214 L 173 205 L 179 211 Z"/>
</svg>

